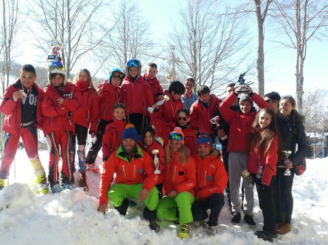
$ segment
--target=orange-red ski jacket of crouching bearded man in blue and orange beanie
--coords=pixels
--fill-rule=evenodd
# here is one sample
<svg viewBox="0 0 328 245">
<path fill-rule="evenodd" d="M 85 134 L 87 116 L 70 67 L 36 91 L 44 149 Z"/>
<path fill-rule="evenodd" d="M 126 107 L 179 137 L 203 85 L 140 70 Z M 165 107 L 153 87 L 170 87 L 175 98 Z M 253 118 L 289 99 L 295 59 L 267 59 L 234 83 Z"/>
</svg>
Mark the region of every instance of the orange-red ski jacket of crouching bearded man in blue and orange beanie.
<svg viewBox="0 0 328 245">
<path fill-rule="evenodd" d="M 114 183 L 126 185 L 143 183 L 143 188 L 150 191 L 158 179 L 158 174 L 154 174 L 153 164 L 149 154 L 139 147 L 129 162 L 123 154 L 121 145 L 103 164 L 103 171 L 100 176 L 99 204 L 107 204 L 108 202 L 107 191 L 110 189 L 114 173 L 116 173 Z"/>
</svg>

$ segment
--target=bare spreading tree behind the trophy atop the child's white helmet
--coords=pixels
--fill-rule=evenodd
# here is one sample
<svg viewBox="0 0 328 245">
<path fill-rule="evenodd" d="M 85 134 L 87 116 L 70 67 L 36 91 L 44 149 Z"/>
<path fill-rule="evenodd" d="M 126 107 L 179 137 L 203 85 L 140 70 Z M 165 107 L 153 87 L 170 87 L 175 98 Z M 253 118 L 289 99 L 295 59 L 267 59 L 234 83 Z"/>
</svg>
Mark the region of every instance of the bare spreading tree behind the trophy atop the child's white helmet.
<svg viewBox="0 0 328 245">
<path fill-rule="evenodd" d="M 46 53 L 50 40 L 64 42 L 61 57 L 68 75 L 79 59 L 97 47 L 111 30 L 103 31 L 98 24 L 98 12 L 105 10 L 103 0 L 39 0 L 35 5 L 30 16 L 39 26 L 29 29 Z"/>
</svg>

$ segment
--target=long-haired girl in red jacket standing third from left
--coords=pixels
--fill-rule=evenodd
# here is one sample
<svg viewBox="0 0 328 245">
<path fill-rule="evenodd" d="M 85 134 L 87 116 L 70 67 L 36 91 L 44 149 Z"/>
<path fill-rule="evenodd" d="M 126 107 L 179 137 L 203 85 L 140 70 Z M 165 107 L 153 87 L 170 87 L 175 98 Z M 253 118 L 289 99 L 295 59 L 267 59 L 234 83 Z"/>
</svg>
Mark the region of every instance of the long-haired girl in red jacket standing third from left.
<svg viewBox="0 0 328 245">
<path fill-rule="evenodd" d="M 84 191 L 89 191 L 85 172 L 85 145 L 87 144 L 88 129 L 91 137 L 95 137 L 97 133 L 97 125 L 99 121 L 99 110 L 97 100 L 97 90 L 93 86 L 91 74 L 88 69 L 83 68 L 78 71 L 75 78 L 76 97 L 78 98 L 81 109 L 79 113 L 73 114 L 75 122 L 75 135 L 71 137 L 72 155 L 72 172 L 75 172 L 75 150 L 76 138 L 78 138 L 78 157 L 79 157 L 79 186 Z M 74 176 L 71 174 L 71 182 L 74 183 Z"/>
</svg>

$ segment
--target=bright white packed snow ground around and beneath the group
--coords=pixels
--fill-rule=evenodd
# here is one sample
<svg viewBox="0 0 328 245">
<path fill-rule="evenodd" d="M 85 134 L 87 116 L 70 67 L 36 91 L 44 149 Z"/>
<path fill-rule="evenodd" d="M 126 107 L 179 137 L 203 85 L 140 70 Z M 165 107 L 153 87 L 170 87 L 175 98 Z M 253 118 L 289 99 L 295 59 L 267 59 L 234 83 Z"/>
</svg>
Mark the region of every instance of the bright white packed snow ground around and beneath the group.
<svg viewBox="0 0 328 245">
<path fill-rule="evenodd" d="M 46 168 L 47 151 L 40 157 Z M 100 164 L 100 158 L 96 163 Z M 274 243 L 328 243 L 328 158 L 307 160 L 303 176 L 295 177 L 294 213 L 291 232 L 278 235 Z M 78 172 L 76 172 L 76 184 Z M 90 191 L 82 188 L 47 195 L 37 194 L 33 174 L 25 151 L 17 151 L 10 172 L 10 185 L 0 191 L 0 240 L 2 244 L 268 244 L 253 235 L 263 225 L 256 190 L 254 221 L 249 228 L 243 219 L 233 225 L 227 206 L 218 220 L 218 233 L 209 237 L 207 229 L 191 225 L 189 238 L 177 236 L 177 226 L 158 222 L 161 231 L 155 233 L 142 219 L 142 203 L 129 207 L 124 217 L 113 209 L 103 216 L 97 212 L 100 174 L 88 171 Z"/>
</svg>

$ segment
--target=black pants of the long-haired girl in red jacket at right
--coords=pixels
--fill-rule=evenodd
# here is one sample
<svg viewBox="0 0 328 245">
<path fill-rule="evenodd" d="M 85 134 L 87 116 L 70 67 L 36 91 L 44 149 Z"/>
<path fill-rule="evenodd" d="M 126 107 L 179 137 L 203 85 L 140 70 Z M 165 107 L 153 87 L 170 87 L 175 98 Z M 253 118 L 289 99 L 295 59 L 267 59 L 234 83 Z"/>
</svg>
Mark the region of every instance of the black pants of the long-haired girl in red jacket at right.
<svg viewBox="0 0 328 245">
<path fill-rule="evenodd" d="M 273 232 L 276 226 L 275 206 L 273 201 L 273 182 L 275 176 L 272 177 L 269 186 L 262 185 L 261 180 L 253 174 L 253 180 L 259 195 L 259 205 L 263 214 L 263 230 Z"/>
</svg>

